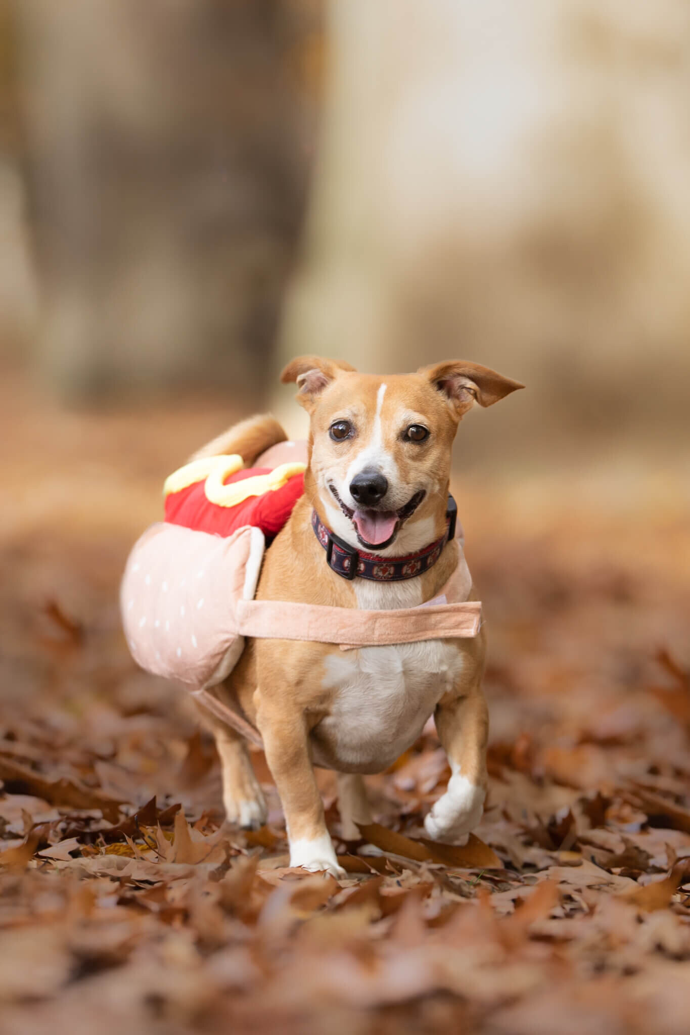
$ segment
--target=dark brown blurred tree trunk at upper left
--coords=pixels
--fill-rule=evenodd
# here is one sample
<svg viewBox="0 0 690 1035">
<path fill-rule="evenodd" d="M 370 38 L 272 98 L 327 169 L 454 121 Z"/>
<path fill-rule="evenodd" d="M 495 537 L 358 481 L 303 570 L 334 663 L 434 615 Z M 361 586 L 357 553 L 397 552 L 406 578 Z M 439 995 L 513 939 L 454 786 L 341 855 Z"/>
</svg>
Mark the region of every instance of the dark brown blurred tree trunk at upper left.
<svg viewBox="0 0 690 1035">
<path fill-rule="evenodd" d="M 250 402 L 301 226 L 319 4 L 13 4 L 42 373 Z"/>
</svg>

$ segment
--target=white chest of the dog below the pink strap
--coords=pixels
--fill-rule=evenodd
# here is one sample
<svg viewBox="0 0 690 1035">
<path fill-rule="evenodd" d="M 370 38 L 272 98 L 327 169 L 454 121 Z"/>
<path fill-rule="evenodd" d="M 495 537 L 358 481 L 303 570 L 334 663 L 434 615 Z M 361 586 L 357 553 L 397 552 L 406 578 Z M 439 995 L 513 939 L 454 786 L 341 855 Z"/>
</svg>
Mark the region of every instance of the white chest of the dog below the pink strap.
<svg viewBox="0 0 690 1035">
<path fill-rule="evenodd" d="M 398 607 L 417 603 L 410 592 L 404 596 Z M 313 734 L 314 761 L 346 772 L 385 769 L 420 735 L 461 666 L 457 641 L 329 654 L 322 685 L 332 705 Z"/>
</svg>

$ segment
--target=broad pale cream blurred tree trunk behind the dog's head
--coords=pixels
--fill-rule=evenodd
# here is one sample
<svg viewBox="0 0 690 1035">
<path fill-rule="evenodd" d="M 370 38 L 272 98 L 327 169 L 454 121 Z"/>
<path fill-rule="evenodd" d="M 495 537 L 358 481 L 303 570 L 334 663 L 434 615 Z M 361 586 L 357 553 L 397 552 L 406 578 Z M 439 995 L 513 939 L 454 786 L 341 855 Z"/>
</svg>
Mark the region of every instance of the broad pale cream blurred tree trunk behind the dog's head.
<svg viewBox="0 0 690 1035">
<path fill-rule="evenodd" d="M 687 419 L 685 0 L 331 0 L 280 359 L 464 357 L 523 380 L 483 459 Z M 282 408 L 282 403 L 279 404 Z M 288 412 L 286 410 L 286 412 Z M 654 434 L 654 433 L 653 433 Z"/>
</svg>

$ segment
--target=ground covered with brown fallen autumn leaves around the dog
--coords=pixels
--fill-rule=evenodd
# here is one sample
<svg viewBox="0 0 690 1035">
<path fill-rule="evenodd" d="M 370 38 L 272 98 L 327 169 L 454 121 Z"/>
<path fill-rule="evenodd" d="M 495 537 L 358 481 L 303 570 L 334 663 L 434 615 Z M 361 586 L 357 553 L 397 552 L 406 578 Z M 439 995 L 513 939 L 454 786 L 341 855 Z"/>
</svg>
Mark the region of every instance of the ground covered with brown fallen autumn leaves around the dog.
<svg viewBox="0 0 690 1035">
<path fill-rule="evenodd" d="M 229 419 L 65 415 L 6 378 L 0 478 L 2 1030 L 686 1035 L 690 522 L 636 468 L 458 481 L 490 631 L 480 840 L 423 840 L 433 729 L 370 779 L 348 879 L 221 824 L 183 692 L 137 670 L 117 586 L 162 477 Z"/>
</svg>

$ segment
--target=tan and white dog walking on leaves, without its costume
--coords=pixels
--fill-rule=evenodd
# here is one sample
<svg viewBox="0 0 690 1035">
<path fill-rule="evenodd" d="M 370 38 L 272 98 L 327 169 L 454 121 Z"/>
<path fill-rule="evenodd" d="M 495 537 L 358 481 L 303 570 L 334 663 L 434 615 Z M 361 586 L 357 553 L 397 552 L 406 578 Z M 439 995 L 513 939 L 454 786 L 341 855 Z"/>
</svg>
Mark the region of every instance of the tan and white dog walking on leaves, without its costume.
<svg viewBox="0 0 690 1035">
<path fill-rule="evenodd" d="M 282 372 L 297 382 L 310 417 L 304 496 L 267 551 L 257 598 L 393 610 L 433 599 L 458 563 L 449 539 L 439 559 L 400 581 L 342 578 L 327 563 L 312 527 L 350 548 L 386 560 L 442 539 L 451 447 L 461 416 L 521 388 L 476 363 L 438 363 L 416 374 L 376 377 L 349 364 L 303 356 Z M 252 463 L 284 439 L 270 417 L 257 417 L 197 454 L 240 453 Z M 469 599 L 477 599 L 474 592 Z M 424 826 L 438 840 L 463 844 L 481 819 L 486 795 L 488 717 L 481 690 L 485 637 L 427 640 L 343 652 L 335 645 L 249 640 L 227 688 L 259 729 L 280 796 L 291 865 L 338 865 L 324 820 L 313 765 L 338 773 L 343 836 L 371 821 L 362 774 L 381 772 L 409 748 L 430 715 L 450 762 L 445 794 Z M 223 699 L 226 687 L 214 692 Z M 213 720 L 228 818 L 244 826 L 266 820 L 266 803 L 246 744 Z"/>
</svg>

